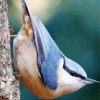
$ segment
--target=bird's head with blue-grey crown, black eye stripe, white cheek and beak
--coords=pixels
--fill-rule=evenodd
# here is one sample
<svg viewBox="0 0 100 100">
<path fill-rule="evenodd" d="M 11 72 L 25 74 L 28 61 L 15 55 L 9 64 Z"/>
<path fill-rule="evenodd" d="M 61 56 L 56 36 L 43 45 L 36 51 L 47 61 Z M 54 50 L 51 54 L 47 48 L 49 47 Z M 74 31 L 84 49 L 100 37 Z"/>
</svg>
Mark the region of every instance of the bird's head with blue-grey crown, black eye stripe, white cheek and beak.
<svg viewBox="0 0 100 100">
<path fill-rule="evenodd" d="M 61 66 L 63 66 L 61 68 Z M 69 93 L 79 90 L 85 85 L 100 83 L 87 77 L 84 69 L 69 58 L 60 60 L 58 68 L 58 83 Z"/>
</svg>

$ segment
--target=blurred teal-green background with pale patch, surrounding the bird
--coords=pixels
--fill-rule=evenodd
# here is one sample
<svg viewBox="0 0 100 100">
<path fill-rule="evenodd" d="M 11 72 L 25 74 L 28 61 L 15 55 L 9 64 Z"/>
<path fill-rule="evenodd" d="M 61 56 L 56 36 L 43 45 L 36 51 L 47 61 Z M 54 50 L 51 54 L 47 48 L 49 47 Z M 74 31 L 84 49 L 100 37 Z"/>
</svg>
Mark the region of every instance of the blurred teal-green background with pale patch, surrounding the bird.
<svg viewBox="0 0 100 100">
<path fill-rule="evenodd" d="M 59 48 L 100 81 L 100 0 L 26 0 Z M 19 0 L 8 0 L 9 23 L 17 34 L 22 25 Z M 12 44 L 12 42 L 11 42 Z M 35 83 L 33 83 L 35 84 Z M 39 100 L 21 84 L 21 100 Z M 100 85 L 90 85 L 55 100 L 100 100 Z"/>
</svg>

